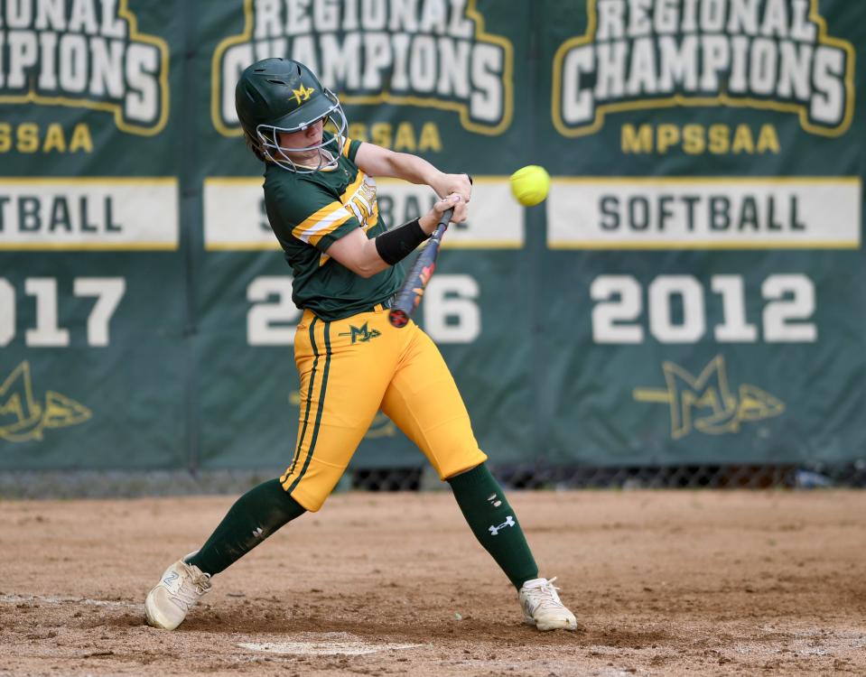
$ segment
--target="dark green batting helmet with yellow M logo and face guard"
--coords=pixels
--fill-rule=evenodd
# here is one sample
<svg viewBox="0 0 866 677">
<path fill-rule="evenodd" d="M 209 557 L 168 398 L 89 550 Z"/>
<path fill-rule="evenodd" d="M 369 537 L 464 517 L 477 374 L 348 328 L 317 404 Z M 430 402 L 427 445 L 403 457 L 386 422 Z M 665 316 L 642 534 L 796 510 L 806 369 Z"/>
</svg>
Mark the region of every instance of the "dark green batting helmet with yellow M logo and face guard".
<svg viewBox="0 0 866 677">
<path fill-rule="evenodd" d="M 328 170 L 339 162 L 349 126 L 340 99 L 302 63 L 256 61 L 237 81 L 235 107 L 247 141 L 265 162 L 298 173 Z M 319 121 L 322 127 L 333 127 L 330 138 L 318 144 L 284 145 L 281 134 L 303 132 Z"/>
</svg>

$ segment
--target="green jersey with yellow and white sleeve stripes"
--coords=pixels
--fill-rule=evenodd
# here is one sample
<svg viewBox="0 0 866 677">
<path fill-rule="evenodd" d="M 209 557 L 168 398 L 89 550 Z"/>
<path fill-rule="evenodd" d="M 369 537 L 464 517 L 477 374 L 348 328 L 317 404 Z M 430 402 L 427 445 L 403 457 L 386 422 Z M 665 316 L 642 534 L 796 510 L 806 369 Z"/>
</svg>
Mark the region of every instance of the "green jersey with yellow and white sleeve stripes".
<svg viewBox="0 0 866 677">
<path fill-rule="evenodd" d="M 405 276 L 401 265 L 392 265 L 363 278 L 327 254 L 354 228 L 369 238 L 387 230 L 379 215 L 376 181 L 355 164 L 360 144 L 347 139 L 331 170 L 300 174 L 273 163 L 265 168 L 265 209 L 292 266 L 292 300 L 322 320 L 341 320 L 386 301 Z"/>
</svg>

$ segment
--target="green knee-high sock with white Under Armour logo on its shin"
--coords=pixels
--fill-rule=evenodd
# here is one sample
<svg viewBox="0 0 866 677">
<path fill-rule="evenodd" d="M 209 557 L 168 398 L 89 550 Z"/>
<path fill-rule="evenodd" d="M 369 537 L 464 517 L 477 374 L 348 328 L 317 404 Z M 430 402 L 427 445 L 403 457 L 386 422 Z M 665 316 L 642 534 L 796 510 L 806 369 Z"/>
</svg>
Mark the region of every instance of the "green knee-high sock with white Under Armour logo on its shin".
<svg viewBox="0 0 866 677">
<path fill-rule="evenodd" d="M 526 580 L 537 579 L 538 567 L 517 515 L 487 465 L 482 463 L 469 472 L 448 478 L 448 483 L 472 533 L 514 587 L 520 589 Z"/>
</svg>

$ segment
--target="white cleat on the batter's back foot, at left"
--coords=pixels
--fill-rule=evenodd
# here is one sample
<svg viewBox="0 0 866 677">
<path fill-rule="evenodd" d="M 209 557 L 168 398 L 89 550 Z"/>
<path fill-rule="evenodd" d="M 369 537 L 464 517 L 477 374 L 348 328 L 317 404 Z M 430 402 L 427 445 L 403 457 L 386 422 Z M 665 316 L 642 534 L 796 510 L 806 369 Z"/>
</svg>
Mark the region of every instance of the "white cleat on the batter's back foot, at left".
<svg viewBox="0 0 866 677">
<path fill-rule="evenodd" d="M 191 552 L 186 557 L 194 554 Z M 174 562 L 144 599 L 148 625 L 173 630 L 182 624 L 190 609 L 207 592 L 210 592 L 210 573 L 204 573 L 183 560 Z"/>
</svg>

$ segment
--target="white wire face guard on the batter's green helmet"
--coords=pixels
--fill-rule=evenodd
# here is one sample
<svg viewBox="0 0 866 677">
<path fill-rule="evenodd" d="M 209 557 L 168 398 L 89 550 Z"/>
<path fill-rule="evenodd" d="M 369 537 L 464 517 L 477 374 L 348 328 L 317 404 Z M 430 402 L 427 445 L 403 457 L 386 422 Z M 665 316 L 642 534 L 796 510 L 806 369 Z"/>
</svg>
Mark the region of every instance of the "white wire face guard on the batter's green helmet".
<svg viewBox="0 0 866 677">
<path fill-rule="evenodd" d="M 312 172 L 319 172 L 337 166 L 337 162 L 340 160 L 340 153 L 343 151 L 343 145 L 346 143 L 346 129 L 349 126 L 349 122 L 346 120 L 346 115 L 340 106 L 340 99 L 337 98 L 331 89 L 325 89 L 324 94 L 331 101 L 331 107 L 312 120 L 307 120 L 300 125 L 291 127 L 278 127 L 275 125 L 258 125 L 256 127 L 256 134 L 262 144 L 262 153 L 265 153 L 268 160 L 274 162 L 284 170 L 299 174 L 312 174 Z M 322 118 L 330 121 L 331 125 L 336 129 L 336 133 L 327 141 L 322 138 L 321 144 L 314 144 L 303 148 L 288 148 L 280 144 L 280 134 L 303 132 L 304 129 L 317 123 Z M 298 162 L 293 161 L 289 156 L 290 153 L 310 153 L 312 151 L 318 151 L 316 154 L 319 158 L 319 163 L 314 167 L 312 165 L 298 164 Z M 303 162 L 306 162 L 306 159 Z"/>
</svg>

